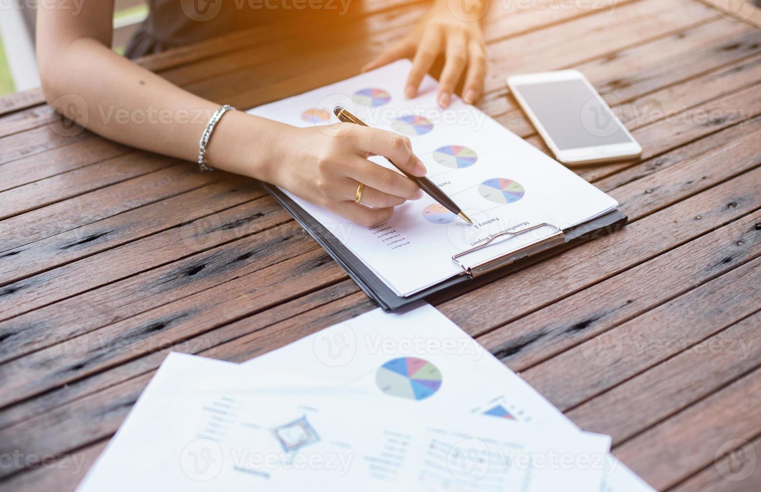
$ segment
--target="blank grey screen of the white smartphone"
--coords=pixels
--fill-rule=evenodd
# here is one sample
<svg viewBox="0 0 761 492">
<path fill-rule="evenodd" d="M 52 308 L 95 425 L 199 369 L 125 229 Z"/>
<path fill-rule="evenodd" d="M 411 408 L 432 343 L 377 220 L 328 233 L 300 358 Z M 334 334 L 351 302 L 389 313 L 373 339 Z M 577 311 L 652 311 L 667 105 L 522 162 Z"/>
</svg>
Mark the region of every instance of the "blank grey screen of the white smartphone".
<svg viewBox="0 0 761 492">
<path fill-rule="evenodd" d="M 584 81 L 514 84 L 558 150 L 632 141 Z"/>
</svg>

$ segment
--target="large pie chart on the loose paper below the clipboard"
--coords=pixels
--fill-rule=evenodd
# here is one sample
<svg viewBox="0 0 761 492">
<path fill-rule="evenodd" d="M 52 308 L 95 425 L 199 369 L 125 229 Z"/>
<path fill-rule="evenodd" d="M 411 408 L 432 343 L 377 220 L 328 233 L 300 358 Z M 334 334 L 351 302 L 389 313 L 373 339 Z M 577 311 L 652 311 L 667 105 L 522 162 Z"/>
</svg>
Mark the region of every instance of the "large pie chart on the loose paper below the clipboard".
<svg viewBox="0 0 761 492">
<path fill-rule="evenodd" d="M 387 395 L 423 400 L 441 386 L 441 372 L 428 360 L 399 357 L 378 367 L 375 382 Z"/>
</svg>

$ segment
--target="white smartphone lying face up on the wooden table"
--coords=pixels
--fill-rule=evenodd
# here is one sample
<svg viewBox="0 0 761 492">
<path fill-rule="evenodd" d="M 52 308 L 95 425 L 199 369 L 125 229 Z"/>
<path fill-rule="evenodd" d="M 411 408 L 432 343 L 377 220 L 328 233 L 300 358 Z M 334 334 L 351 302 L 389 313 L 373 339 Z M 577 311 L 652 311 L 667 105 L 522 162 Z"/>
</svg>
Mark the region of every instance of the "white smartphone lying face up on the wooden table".
<svg viewBox="0 0 761 492">
<path fill-rule="evenodd" d="M 508 87 L 560 162 L 594 164 L 642 154 L 642 147 L 580 71 L 514 75 Z"/>
</svg>

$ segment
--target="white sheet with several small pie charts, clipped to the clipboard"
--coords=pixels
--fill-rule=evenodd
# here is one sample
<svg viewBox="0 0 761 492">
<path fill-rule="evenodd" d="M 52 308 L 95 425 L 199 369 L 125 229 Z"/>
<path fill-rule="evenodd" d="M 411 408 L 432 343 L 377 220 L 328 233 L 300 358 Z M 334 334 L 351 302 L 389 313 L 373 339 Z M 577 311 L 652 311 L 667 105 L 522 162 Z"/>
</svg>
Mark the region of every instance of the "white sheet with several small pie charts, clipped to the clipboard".
<svg viewBox="0 0 761 492">
<path fill-rule="evenodd" d="M 438 83 L 433 78 L 426 76 L 420 95 L 407 99 L 404 84 L 409 68 L 408 60 L 400 60 L 250 110 L 256 116 L 304 127 L 338 122 L 333 107 L 340 105 L 368 125 L 411 138 L 428 178 L 460 205 L 474 226 L 428 195 L 397 207 L 386 223 L 367 228 L 287 192 L 397 295 L 409 296 L 461 274 L 462 268 L 451 256 L 485 243 L 497 233 L 543 223 L 565 229 L 617 206 L 613 198 L 459 98 L 454 97 L 446 110 L 439 108 L 435 100 Z M 365 94 L 368 90 L 381 92 L 373 97 Z M 413 117 L 425 118 L 430 125 L 399 121 Z M 371 160 L 390 167 L 382 157 Z M 463 262 L 473 265 L 480 256 L 496 256 L 552 232 L 548 228 L 501 240 L 466 256 Z"/>
</svg>

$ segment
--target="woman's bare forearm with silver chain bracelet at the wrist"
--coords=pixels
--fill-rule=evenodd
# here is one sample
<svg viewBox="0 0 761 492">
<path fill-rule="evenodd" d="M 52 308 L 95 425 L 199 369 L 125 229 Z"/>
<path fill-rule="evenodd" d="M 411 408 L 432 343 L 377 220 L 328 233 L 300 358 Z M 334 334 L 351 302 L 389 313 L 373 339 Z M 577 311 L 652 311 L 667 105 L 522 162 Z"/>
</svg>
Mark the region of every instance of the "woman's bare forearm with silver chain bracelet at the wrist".
<svg viewBox="0 0 761 492">
<path fill-rule="evenodd" d="M 49 102 L 77 101 L 73 115 L 56 108 L 62 114 L 86 113 L 91 132 L 159 154 L 196 160 L 205 125 L 219 107 L 91 38 L 57 48 L 41 65 Z M 279 123 L 236 113 L 228 111 L 218 122 L 206 158 L 219 169 L 267 180 Z"/>
</svg>

